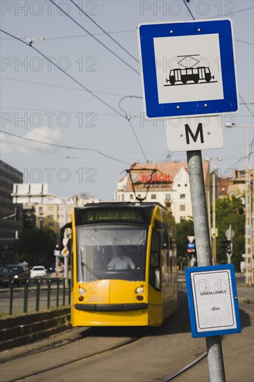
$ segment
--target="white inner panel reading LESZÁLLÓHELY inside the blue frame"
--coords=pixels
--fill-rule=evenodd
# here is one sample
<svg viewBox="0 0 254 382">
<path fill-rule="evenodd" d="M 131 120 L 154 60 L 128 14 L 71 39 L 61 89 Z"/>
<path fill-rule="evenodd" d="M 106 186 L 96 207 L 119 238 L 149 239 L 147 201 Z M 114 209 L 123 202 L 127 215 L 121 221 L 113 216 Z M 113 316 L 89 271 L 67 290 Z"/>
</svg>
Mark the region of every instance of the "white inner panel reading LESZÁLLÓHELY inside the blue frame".
<svg viewBox="0 0 254 382">
<path fill-rule="evenodd" d="M 230 271 L 191 274 L 197 332 L 236 329 Z"/>
</svg>

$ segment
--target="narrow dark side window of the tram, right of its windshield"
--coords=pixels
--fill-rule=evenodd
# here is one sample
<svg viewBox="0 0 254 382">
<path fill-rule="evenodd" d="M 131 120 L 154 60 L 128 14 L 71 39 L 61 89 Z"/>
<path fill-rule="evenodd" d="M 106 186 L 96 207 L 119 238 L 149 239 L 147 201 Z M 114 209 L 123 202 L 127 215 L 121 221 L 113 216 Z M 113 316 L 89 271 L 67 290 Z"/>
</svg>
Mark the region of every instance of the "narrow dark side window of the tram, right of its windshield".
<svg viewBox="0 0 254 382">
<path fill-rule="evenodd" d="M 153 231 L 149 267 L 149 283 L 160 290 L 160 233 Z"/>
</svg>

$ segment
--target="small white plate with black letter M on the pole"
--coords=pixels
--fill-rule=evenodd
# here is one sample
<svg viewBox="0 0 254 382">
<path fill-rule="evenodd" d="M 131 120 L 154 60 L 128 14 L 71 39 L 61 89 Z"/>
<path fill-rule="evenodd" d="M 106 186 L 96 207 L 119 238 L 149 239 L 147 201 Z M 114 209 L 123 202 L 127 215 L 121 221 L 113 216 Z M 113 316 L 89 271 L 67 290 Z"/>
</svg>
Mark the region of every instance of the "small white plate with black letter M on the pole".
<svg viewBox="0 0 254 382">
<path fill-rule="evenodd" d="M 223 146 L 221 116 L 167 118 L 169 151 L 219 149 Z"/>
</svg>

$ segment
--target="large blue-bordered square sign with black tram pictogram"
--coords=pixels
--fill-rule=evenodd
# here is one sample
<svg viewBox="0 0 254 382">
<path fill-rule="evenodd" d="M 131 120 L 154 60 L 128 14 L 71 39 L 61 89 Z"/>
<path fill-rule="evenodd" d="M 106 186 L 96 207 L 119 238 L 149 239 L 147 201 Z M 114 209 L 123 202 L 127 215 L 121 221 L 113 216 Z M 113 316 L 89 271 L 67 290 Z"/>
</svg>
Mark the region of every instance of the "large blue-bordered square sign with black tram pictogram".
<svg viewBox="0 0 254 382">
<path fill-rule="evenodd" d="M 138 35 L 148 117 L 238 111 L 230 19 L 140 24 Z"/>
</svg>

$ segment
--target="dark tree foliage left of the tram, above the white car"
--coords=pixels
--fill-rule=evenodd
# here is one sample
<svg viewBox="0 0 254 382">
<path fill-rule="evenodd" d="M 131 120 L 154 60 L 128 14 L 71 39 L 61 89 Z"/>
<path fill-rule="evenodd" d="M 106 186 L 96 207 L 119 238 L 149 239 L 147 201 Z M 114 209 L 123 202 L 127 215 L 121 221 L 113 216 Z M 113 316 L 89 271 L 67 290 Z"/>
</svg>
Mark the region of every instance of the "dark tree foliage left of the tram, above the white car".
<svg viewBox="0 0 254 382">
<path fill-rule="evenodd" d="M 24 229 L 19 242 L 21 260 L 29 266 L 49 265 L 52 263 L 53 250 L 56 247 L 56 233 L 51 229 Z"/>
</svg>

